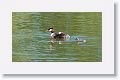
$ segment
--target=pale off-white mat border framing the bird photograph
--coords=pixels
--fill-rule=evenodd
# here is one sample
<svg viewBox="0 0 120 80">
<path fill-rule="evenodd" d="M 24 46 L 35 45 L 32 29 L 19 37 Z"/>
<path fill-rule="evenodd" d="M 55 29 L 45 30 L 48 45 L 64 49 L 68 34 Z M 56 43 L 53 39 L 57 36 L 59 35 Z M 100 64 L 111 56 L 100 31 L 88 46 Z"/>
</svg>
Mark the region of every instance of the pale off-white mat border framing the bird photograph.
<svg viewBox="0 0 120 80">
<path fill-rule="evenodd" d="M 3 74 L 114 74 L 112 0 L 4 0 L 0 3 Z M 12 12 L 102 12 L 102 62 L 12 62 Z"/>
</svg>

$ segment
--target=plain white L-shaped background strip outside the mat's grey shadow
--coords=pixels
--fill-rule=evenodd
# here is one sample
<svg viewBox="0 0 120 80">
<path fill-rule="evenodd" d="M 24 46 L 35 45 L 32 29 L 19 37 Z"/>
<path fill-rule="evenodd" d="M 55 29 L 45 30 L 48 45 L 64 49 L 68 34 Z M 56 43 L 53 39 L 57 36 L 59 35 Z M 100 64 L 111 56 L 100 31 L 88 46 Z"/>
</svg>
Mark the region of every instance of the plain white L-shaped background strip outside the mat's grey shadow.
<svg viewBox="0 0 120 80">
<path fill-rule="evenodd" d="M 109 0 L 108 0 L 109 1 Z M 118 57 L 120 57 L 120 55 L 119 55 L 119 53 L 120 53 L 120 50 L 118 50 L 118 48 L 120 48 L 119 47 L 119 45 L 120 45 L 120 43 L 118 42 L 118 41 L 120 41 L 120 37 L 118 36 L 118 35 L 120 35 L 120 32 L 119 32 L 119 30 L 120 30 L 120 28 L 118 27 L 118 26 L 120 26 L 119 25 L 119 23 L 118 23 L 118 21 L 119 21 L 119 19 L 120 19 L 120 16 L 118 16 L 117 14 L 119 14 L 120 13 L 120 10 L 119 10 L 119 8 L 120 8 L 120 0 L 115 0 L 115 14 L 116 14 L 116 41 L 117 41 L 117 43 L 116 43 L 116 76 L 109 76 L 109 75 L 107 75 L 107 76 L 104 76 L 104 75 L 97 75 L 97 76 L 95 76 L 95 75 L 93 75 L 93 76 L 90 76 L 90 75 L 80 75 L 80 76 L 78 76 L 78 75 L 75 75 L 75 76 L 60 76 L 60 75 L 58 75 L 58 76 L 55 76 L 55 75 L 53 75 L 53 76 L 50 76 L 50 75 L 0 75 L 0 80 L 80 80 L 80 79 L 82 79 L 82 80 L 119 80 L 120 79 L 120 70 L 119 70 L 119 68 L 118 67 L 120 67 L 120 62 L 118 62 L 118 61 L 120 61 L 120 59 L 118 58 Z"/>
</svg>

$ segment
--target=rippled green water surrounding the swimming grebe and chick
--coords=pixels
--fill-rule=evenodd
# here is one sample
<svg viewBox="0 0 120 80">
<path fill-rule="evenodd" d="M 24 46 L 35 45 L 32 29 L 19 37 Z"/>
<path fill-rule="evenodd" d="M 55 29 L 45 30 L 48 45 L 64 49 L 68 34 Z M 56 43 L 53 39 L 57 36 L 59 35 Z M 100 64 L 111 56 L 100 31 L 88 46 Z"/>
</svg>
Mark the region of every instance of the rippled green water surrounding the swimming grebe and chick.
<svg viewBox="0 0 120 80">
<path fill-rule="evenodd" d="M 50 33 L 69 34 L 68 41 L 50 47 Z M 85 39 L 77 44 L 75 38 Z M 12 13 L 13 62 L 101 62 L 102 13 L 101 12 L 13 12 Z"/>
</svg>

